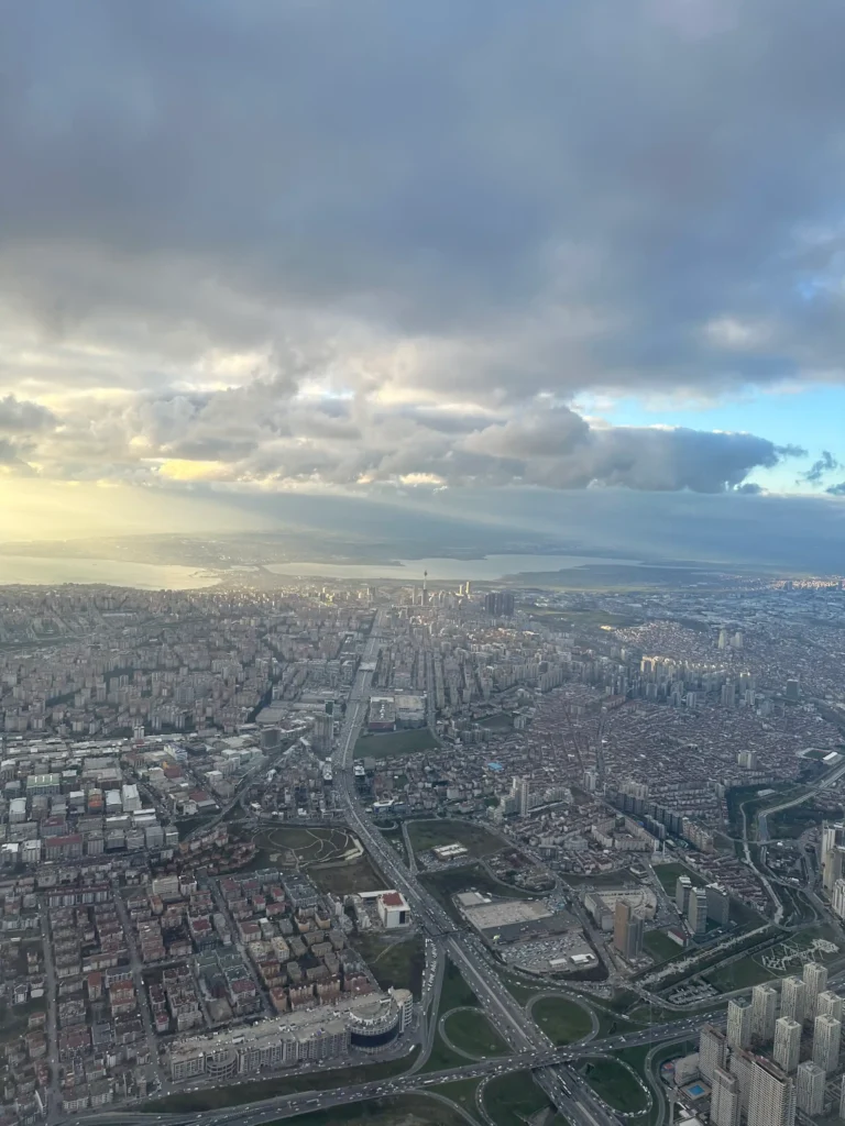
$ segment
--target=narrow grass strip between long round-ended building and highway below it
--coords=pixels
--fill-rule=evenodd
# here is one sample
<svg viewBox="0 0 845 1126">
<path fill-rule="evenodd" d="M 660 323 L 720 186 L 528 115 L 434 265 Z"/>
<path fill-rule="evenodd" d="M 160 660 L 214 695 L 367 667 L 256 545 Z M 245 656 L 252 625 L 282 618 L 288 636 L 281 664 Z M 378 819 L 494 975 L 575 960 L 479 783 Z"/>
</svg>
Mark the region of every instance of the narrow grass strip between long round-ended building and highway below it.
<svg viewBox="0 0 845 1126">
<path fill-rule="evenodd" d="M 300 1091 L 330 1091 L 338 1087 L 353 1087 L 355 1083 L 377 1082 L 380 1079 L 401 1075 L 411 1066 L 413 1058 L 410 1055 L 402 1060 L 338 1067 L 336 1071 L 312 1072 L 309 1075 L 277 1075 L 275 1079 L 259 1080 L 255 1083 L 186 1091 L 183 1094 L 170 1094 L 166 1099 L 148 1102 L 142 1109 L 151 1115 L 185 1114 L 194 1110 L 240 1107 L 244 1102 L 257 1102 L 259 1099 L 270 1099 L 274 1096 L 297 1094 Z"/>
</svg>

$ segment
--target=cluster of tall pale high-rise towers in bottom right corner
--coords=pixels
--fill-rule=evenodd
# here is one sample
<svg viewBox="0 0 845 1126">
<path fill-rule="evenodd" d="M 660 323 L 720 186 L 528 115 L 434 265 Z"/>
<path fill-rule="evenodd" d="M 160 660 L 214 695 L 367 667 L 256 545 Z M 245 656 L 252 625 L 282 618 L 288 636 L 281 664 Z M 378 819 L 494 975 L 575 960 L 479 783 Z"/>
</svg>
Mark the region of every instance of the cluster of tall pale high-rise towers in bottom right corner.
<svg viewBox="0 0 845 1126">
<path fill-rule="evenodd" d="M 699 1048 L 713 1126 L 792 1126 L 797 1109 L 820 1115 L 827 1079 L 839 1066 L 842 1011 L 843 999 L 827 989 L 827 969 L 816 962 L 801 977 L 783 980 L 780 1013 L 771 985 L 756 985 L 750 1001 L 729 1001 L 726 1031 L 706 1025 Z"/>
</svg>

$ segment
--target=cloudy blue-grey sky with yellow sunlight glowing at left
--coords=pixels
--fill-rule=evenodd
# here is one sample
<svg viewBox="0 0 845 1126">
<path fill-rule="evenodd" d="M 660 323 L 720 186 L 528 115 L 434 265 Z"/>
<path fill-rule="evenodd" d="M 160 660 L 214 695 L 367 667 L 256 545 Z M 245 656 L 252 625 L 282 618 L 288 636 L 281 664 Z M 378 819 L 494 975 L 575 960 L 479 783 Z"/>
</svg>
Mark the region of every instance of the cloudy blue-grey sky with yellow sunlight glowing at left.
<svg viewBox="0 0 845 1126">
<path fill-rule="evenodd" d="M 292 491 L 840 522 L 838 2 L 0 17 L 5 535 Z"/>
</svg>

